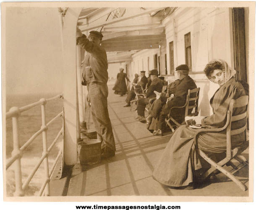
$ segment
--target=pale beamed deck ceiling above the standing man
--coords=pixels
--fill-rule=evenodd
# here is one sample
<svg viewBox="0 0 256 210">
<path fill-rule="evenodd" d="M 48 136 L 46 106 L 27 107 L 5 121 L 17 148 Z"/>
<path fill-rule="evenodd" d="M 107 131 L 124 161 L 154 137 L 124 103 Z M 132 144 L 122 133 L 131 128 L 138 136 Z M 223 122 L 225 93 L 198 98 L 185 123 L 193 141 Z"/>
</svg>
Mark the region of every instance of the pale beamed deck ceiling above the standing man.
<svg viewBox="0 0 256 210">
<path fill-rule="evenodd" d="M 159 44 L 165 44 L 162 20 L 174 10 L 171 7 L 84 8 L 78 18 L 78 28 L 84 34 L 91 30 L 101 31 L 104 36 L 102 47 L 107 52 L 128 52 L 129 59 L 130 52 L 155 49 Z"/>
</svg>

